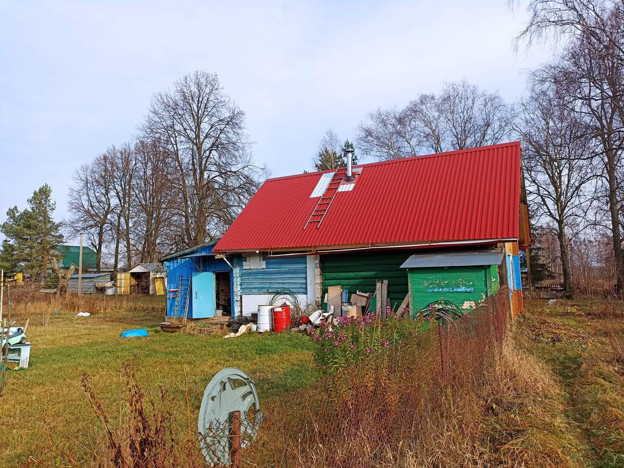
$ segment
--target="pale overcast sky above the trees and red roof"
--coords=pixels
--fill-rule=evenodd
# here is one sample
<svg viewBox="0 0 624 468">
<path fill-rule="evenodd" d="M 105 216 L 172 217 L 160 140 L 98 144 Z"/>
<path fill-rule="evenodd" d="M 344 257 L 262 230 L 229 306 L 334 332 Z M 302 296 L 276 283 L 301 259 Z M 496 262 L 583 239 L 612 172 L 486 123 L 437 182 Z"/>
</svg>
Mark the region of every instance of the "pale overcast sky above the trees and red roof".
<svg viewBox="0 0 624 468">
<path fill-rule="evenodd" d="M 130 140 L 152 93 L 217 72 L 273 176 L 310 168 L 324 131 L 466 79 L 506 100 L 545 50 L 514 54 L 506 0 L 421 2 L 0 0 L 0 222 Z"/>
</svg>

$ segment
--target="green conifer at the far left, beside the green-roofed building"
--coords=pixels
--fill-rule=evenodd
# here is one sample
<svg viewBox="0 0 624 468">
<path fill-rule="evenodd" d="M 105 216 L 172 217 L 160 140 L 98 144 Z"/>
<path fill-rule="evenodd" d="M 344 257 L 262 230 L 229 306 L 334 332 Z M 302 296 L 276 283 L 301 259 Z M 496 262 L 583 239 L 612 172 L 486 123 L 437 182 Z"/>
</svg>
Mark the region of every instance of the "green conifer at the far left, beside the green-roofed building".
<svg viewBox="0 0 624 468">
<path fill-rule="evenodd" d="M 59 232 L 61 223 L 52 218 L 54 209 L 56 203 L 48 184 L 32 193 L 24 211 L 19 211 L 17 206 L 9 208 L 7 221 L 1 229 L 6 236 L 2 244 L 2 261 L 16 268 L 23 267 L 31 275 L 41 275 L 45 280 L 50 255 L 63 239 Z"/>
</svg>

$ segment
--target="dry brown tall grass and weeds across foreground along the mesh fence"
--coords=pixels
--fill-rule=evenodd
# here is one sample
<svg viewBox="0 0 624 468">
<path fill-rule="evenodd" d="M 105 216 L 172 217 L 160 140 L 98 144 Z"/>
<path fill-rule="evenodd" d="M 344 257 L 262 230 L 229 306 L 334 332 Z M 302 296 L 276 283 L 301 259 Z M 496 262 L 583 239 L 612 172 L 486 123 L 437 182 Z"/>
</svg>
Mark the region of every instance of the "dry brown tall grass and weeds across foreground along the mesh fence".
<svg viewBox="0 0 624 468">
<path fill-rule="evenodd" d="M 265 424 L 243 451 L 259 467 L 582 466 L 552 371 L 517 345 L 500 295 L 444 328 L 391 346 L 331 378 L 263 404 Z M 102 436 L 93 466 L 205 466 L 197 435 L 175 439 L 170 399 L 145 403 L 125 373 L 128 416 L 111 427 L 83 381 Z M 190 412 L 189 412 L 190 413 Z M 190 421 L 190 419 L 189 419 Z M 67 466 L 71 457 L 56 447 Z M 41 463 L 41 466 L 50 466 Z"/>
</svg>

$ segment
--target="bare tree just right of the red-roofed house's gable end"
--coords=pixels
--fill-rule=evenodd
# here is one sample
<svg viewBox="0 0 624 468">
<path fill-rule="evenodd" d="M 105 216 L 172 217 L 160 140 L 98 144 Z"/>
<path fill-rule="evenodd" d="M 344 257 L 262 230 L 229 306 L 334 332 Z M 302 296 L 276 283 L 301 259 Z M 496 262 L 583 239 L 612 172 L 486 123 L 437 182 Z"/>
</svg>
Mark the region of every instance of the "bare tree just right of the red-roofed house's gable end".
<svg viewBox="0 0 624 468">
<path fill-rule="evenodd" d="M 534 84 L 516 110 L 511 122 L 522 137 L 527 196 L 538 219 L 545 217 L 555 227 L 563 289 L 572 297 L 570 238 L 578 232 L 590 201 L 587 191 L 595 179 L 585 122 L 555 85 Z"/>
</svg>

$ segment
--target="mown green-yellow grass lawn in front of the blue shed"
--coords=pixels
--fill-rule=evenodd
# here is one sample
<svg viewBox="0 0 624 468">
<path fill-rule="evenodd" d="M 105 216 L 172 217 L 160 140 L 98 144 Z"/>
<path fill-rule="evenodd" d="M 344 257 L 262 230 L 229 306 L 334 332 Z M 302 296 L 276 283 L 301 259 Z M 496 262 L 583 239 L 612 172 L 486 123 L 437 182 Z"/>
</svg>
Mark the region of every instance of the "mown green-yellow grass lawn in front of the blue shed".
<svg viewBox="0 0 624 468">
<path fill-rule="evenodd" d="M 0 466 L 22 466 L 29 456 L 49 454 L 52 446 L 66 447 L 79 461 L 89 459 L 100 426 L 80 386 L 83 373 L 92 378 L 115 423 L 124 414 L 120 368 L 129 363 L 149 396 L 157 396 L 162 386 L 174 398 L 180 431 L 187 423 L 185 371 L 193 424 L 205 386 L 222 368 L 248 373 L 256 381 L 261 404 L 317 378 L 311 340 L 299 333 L 232 339 L 163 333 L 155 326 L 164 315 L 163 299 L 107 300 L 110 308 L 91 317 L 75 317 L 75 310 L 64 310 L 62 302 L 30 305 L 18 317 L 21 322 L 31 318 L 27 336 L 33 345 L 29 368 L 7 373 L 0 399 Z M 46 310 L 52 315 L 44 327 Z M 120 338 L 123 330 L 138 327 L 147 328 L 149 337 Z"/>
</svg>

